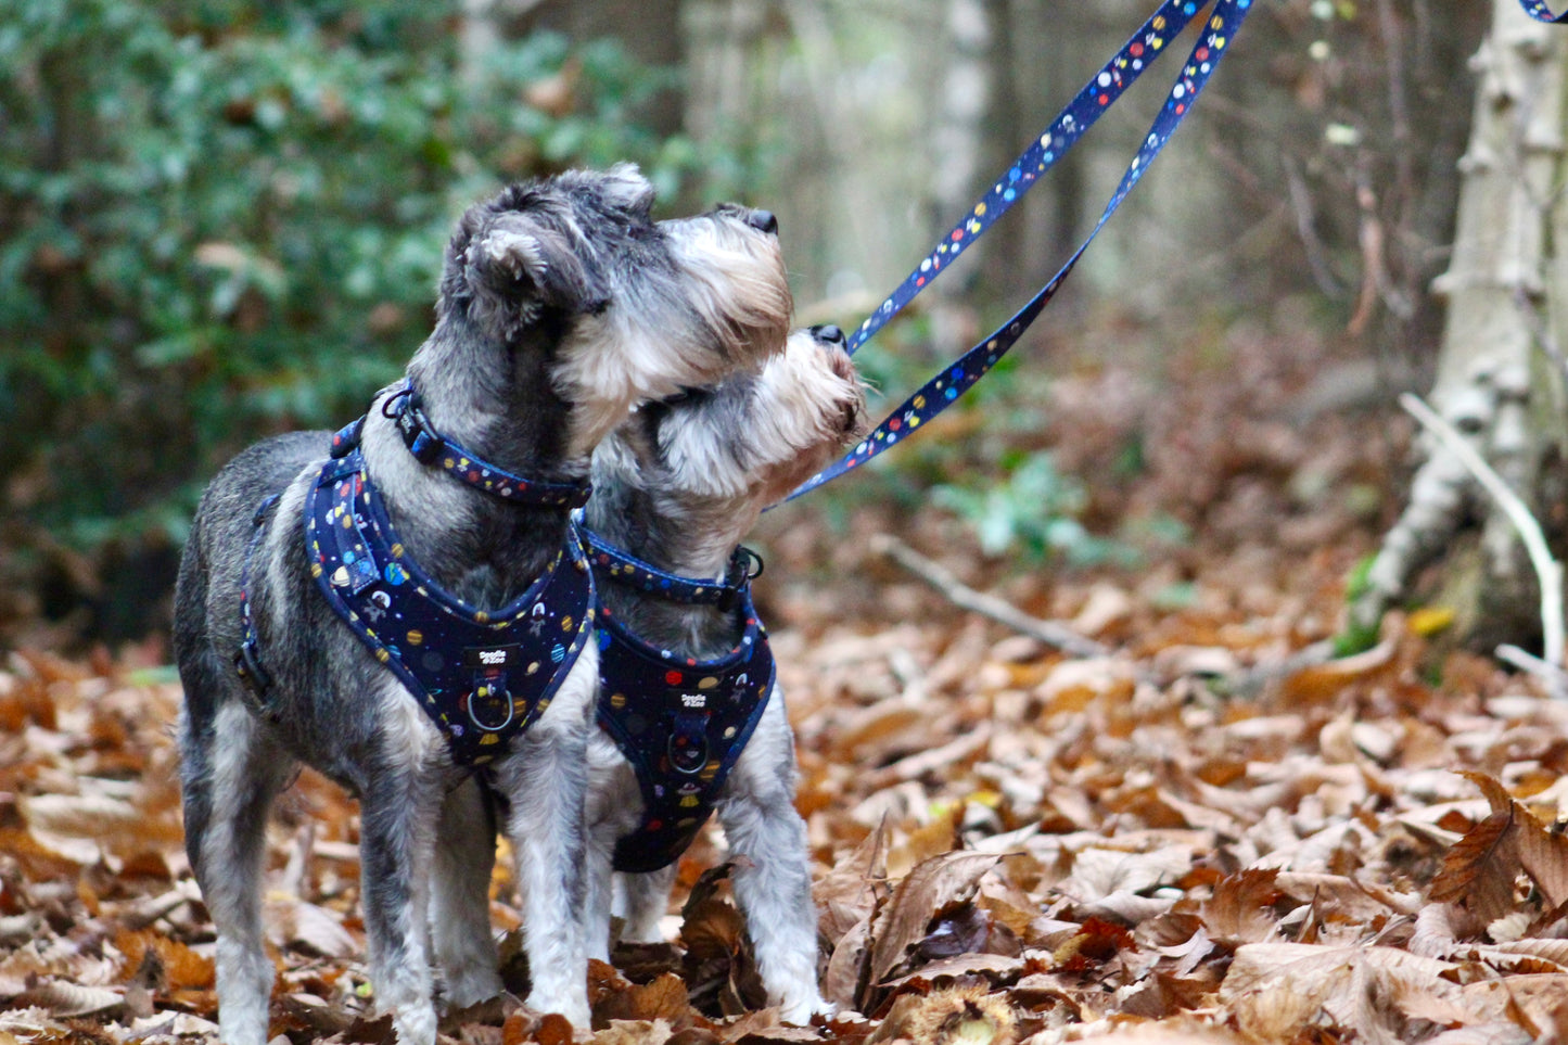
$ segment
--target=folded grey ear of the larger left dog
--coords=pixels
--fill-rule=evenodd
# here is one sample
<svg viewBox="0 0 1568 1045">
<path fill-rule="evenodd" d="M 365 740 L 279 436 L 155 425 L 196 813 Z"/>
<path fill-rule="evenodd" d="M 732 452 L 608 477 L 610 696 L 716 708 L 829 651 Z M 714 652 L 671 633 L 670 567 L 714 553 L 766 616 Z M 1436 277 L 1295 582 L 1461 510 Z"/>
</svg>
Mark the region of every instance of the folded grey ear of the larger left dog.
<svg viewBox="0 0 1568 1045">
<path fill-rule="evenodd" d="M 453 259 L 463 268 L 469 319 L 513 342 L 544 309 L 580 311 L 582 262 L 558 231 L 524 213 L 497 215 Z"/>
</svg>

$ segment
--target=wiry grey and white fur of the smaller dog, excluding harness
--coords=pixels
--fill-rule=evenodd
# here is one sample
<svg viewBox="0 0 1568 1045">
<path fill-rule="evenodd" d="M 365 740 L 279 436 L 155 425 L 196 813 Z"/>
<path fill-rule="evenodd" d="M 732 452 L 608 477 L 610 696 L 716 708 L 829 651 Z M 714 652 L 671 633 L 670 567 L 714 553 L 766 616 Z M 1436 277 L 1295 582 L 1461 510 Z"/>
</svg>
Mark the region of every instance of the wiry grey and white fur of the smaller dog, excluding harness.
<svg viewBox="0 0 1568 1045">
<path fill-rule="evenodd" d="M 759 375 L 737 375 L 676 402 L 652 403 L 594 453 L 590 529 L 663 570 L 723 577 L 734 548 L 760 512 L 820 471 L 862 430 L 866 399 L 842 334 L 798 331 Z M 685 606 L 604 581 L 601 601 L 646 642 L 709 659 L 729 651 L 742 624 L 732 612 Z M 588 745 L 590 954 L 607 957 L 610 860 L 643 813 L 630 764 L 604 733 Z M 817 918 L 806 866 L 806 827 L 793 808 L 795 745 L 775 684 L 762 719 L 724 781 L 717 807 L 737 858 L 735 896 L 746 916 L 762 982 L 786 1020 L 823 1010 L 817 990 Z M 673 869 L 616 876 L 624 938 L 659 940 Z"/>
</svg>

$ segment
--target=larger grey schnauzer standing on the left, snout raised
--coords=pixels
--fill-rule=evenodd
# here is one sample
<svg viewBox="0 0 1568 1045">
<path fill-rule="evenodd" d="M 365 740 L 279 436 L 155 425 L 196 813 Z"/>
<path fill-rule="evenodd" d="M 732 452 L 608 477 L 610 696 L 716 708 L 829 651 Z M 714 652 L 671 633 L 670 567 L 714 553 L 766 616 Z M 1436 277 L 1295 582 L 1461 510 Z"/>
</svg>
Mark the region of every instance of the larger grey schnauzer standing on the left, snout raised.
<svg viewBox="0 0 1568 1045">
<path fill-rule="evenodd" d="M 406 384 L 383 389 L 350 438 L 348 460 L 361 471 L 326 471 L 339 452 L 329 433 L 287 435 L 240 453 L 202 497 L 180 563 L 174 648 L 185 686 L 187 849 L 216 926 L 229 1045 L 267 1039 L 263 832 L 299 761 L 361 802 L 370 976 L 398 1039 L 434 1042 L 437 970 L 447 971 L 448 1004 L 499 990 L 483 887 L 475 898 L 470 882 L 450 874 L 470 858 L 494 860 L 494 833 L 475 841 L 481 832 L 470 824 L 489 816 L 467 797 L 478 789 L 455 786 L 475 772 L 453 755 L 463 730 L 444 730 L 389 667 L 389 650 L 397 659 L 398 646 L 422 640 L 417 631 L 397 642 L 381 634 L 386 646 L 373 646 L 367 632 L 390 631 L 376 620 L 379 604 L 334 612 L 323 595 L 331 588 L 315 576 L 325 538 L 306 516 L 328 475 L 351 491 L 373 479 L 381 515 L 372 522 L 395 530 L 397 562 L 372 562 L 354 577 L 329 570 L 331 584 L 347 579 L 345 588 L 379 598 L 417 570 L 420 593 L 439 587 L 474 626 L 492 623 L 488 610 L 524 599 L 541 577 L 574 573 L 555 566 L 572 559 L 583 566 L 568 501 L 506 504 L 474 485 L 472 472 L 485 469 L 464 474 L 467 457 L 417 452 L 434 438 L 437 450 L 461 447 L 525 477 L 522 486 L 585 491 L 594 446 L 637 403 L 754 369 L 778 350 L 792 303 L 771 215 L 720 207 L 654 223 L 651 206 L 648 180 L 622 165 L 514 185 L 469 209 L 445 251 L 434 330 Z M 409 427 L 411 417 L 420 424 Z M 419 435 L 430 438 L 420 444 Z M 368 513 L 370 494 L 362 496 Z M 361 494 L 345 504 L 323 518 L 361 526 Z M 577 1026 L 588 1021 L 577 913 L 594 689 L 588 643 L 563 661 L 530 728 L 483 759 L 517 858 L 528 1004 Z M 470 703 L 461 706 L 480 731 L 499 730 L 475 712 L 481 692 L 464 694 Z M 513 697 L 505 698 L 511 722 Z M 472 912 L 475 901 L 478 916 L 447 918 Z M 486 954 L 488 965 L 475 960 Z"/>
</svg>

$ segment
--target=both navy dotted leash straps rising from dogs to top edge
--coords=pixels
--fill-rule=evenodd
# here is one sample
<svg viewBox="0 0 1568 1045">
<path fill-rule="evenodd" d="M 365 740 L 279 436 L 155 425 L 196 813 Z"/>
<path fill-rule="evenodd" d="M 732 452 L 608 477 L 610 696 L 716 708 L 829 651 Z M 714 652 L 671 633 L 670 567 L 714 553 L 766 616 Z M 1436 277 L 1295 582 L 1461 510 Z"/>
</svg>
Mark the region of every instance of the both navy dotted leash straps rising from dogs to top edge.
<svg viewBox="0 0 1568 1045">
<path fill-rule="evenodd" d="M 1530 3 L 1534 0 L 1524 0 Z M 1022 191 L 1025 191 L 1033 180 L 1038 179 L 1041 173 L 1049 169 L 1073 143 L 1087 129 L 1083 121 L 1093 124 L 1094 119 L 1109 108 L 1110 102 L 1121 96 L 1129 83 L 1148 64 L 1159 56 L 1165 44 L 1184 28 L 1192 17 L 1207 6 L 1209 0 L 1167 0 L 1160 9 L 1138 30 L 1127 44 L 1116 53 L 1112 61 L 1101 69 L 1094 77 L 1079 93 L 1079 96 L 1068 105 L 1066 110 L 1057 118 L 1051 130 L 1040 137 L 1040 140 L 1030 146 L 1021 157 L 1019 162 L 1013 165 L 1008 174 L 997 182 L 996 187 L 986 195 L 980 204 L 975 206 L 972 217 L 960 223 L 953 232 L 950 232 L 941 245 L 931 254 L 927 256 L 920 265 L 916 267 L 909 279 L 906 279 L 898 290 L 894 292 L 877 311 L 877 314 L 866 320 L 861 328 L 850 339 L 850 351 L 858 348 L 866 342 L 873 333 L 877 333 L 883 323 L 892 319 L 905 304 L 908 304 L 916 293 L 924 290 L 931 279 L 939 275 L 941 268 L 946 267 L 953 256 L 958 254 L 963 246 L 974 242 L 985 229 L 994 223 L 1002 212 L 1010 207 Z M 942 410 L 950 406 L 958 400 L 960 395 L 967 392 L 974 384 L 985 377 L 996 362 L 1007 355 L 1007 351 L 1018 342 L 1030 323 L 1044 311 L 1051 300 L 1062 289 L 1062 284 L 1071 275 L 1073 268 L 1077 265 L 1079 259 L 1088 249 L 1099 231 L 1105 228 L 1110 217 L 1121 207 L 1121 202 L 1127 198 L 1127 193 L 1143 179 L 1143 173 L 1149 169 L 1149 165 L 1170 141 L 1170 137 L 1176 132 L 1181 121 L 1192 111 L 1192 105 L 1198 100 L 1203 88 L 1207 86 L 1209 78 L 1214 71 L 1220 66 L 1220 58 L 1225 55 L 1234 35 L 1240 30 L 1248 11 L 1253 6 L 1253 0 L 1218 0 L 1214 6 L 1214 13 L 1209 16 L 1209 22 L 1204 25 L 1198 36 L 1198 42 L 1193 44 L 1192 55 L 1187 64 L 1182 66 L 1176 83 L 1171 86 L 1165 105 L 1160 113 L 1154 118 L 1154 124 L 1149 127 L 1148 137 L 1143 140 L 1143 146 L 1138 154 L 1132 157 L 1132 163 L 1127 166 L 1127 173 L 1123 176 L 1121 184 L 1116 187 L 1115 195 L 1112 195 L 1110 202 L 1105 206 L 1104 213 L 1101 213 L 1099 221 L 1088 237 L 1079 245 L 1077 251 L 1068 259 L 1066 265 L 1052 276 L 1040 293 L 1029 301 L 1013 319 L 999 326 L 991 333 L 989 337 L 980 340 L 977 345 L 969 348 L 955 362 L 947 364 L 942 370 L 928 380 L 919 391 L 903 402 L 895 411 L 892 411 L 872 433 L 837 463 L 829 464 L 823 471 L 812 475 L 809 480 L 801 483 L 787 501 L 793 501 L 804 493 L 822 486 L 823 483 L 844 475 L 872 460 L 873 457 L 886 452 L 887 449 L 897 446 L 903 438 L 911 435 L 924 422 L 930 421 Z M 1104 100 L 1101 100 L 1104 99 Z M 1025 176 L 1025 171 L 1032 174 Z"/>
</svg>

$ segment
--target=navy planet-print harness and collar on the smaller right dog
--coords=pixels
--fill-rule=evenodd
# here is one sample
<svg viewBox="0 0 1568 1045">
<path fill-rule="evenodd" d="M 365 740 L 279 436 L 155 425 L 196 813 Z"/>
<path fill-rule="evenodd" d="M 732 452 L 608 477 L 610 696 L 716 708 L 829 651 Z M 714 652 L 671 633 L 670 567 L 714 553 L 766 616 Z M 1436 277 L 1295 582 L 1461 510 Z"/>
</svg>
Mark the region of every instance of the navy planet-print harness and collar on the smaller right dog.
<svg viewBox="0 0 1568 1045">
<path fill-rule="evenodd" d="M 715 584 L 665 573 L 586 530 L 583 537 L 593 565 L 610 579 L 673 601 L 734 606 L 745 621 L 734 650 L 698 661 L 654 648 L 599 610 L 599 726 L 632 764 L 643 794 L 643 819 L 616 841 L 613 863 L 616 871 L 657 871 L 691 846 L 713 813 L 773 692 L 773 651 L 751 604 L 756 557 L 739 549 L 729 579 Z"/>
</svg>

